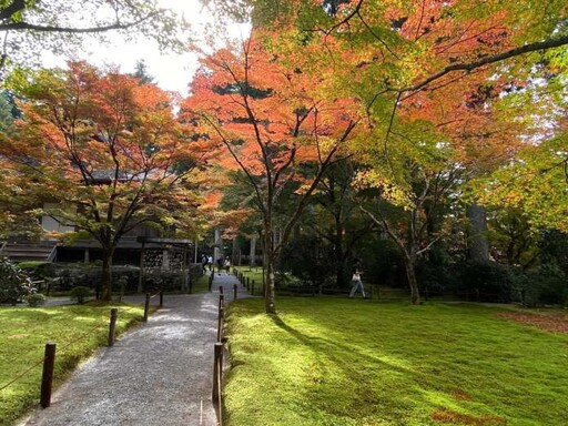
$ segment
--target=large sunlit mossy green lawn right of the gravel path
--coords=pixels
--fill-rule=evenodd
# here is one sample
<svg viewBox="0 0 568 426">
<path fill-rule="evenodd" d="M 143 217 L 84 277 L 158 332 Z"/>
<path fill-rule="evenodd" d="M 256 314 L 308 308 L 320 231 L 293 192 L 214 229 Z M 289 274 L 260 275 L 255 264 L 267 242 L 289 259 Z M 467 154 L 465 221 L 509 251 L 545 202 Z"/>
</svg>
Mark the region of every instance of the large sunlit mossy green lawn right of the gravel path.
<svg viewBox="0 0 568 426">
<path fill-rule="evenodd" d="M 227 425 L 564 425 L 568 336 L 474 305 L 242 300 Z M 455 422 L 455 423 L 450 423 Z"/>
</svg>

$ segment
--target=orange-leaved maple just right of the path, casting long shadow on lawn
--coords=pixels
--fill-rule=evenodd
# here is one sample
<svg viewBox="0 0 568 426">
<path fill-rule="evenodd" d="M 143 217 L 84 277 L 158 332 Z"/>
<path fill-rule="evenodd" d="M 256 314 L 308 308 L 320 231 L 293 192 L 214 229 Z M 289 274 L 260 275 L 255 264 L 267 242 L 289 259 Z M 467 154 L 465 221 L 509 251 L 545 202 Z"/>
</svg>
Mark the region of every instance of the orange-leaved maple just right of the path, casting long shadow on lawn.
<svg viewBox="0 0 568 426">
<path fill-rule="evenodd" d="M 241 170 L 254 193 L 263 223 L 265 308 L 275 313 L 274 263 L 358 118 L 349 100 L 329 99 L 303 72 L 307 62 L 281 59 L 260 38 L 270 34 L 205 55 L 183 110 L 199 121 L 202 143 L 222 150 L 221 164 Z M 284 204 L 293 211 L 275 241 L 276 210 Z"/>
</svg>

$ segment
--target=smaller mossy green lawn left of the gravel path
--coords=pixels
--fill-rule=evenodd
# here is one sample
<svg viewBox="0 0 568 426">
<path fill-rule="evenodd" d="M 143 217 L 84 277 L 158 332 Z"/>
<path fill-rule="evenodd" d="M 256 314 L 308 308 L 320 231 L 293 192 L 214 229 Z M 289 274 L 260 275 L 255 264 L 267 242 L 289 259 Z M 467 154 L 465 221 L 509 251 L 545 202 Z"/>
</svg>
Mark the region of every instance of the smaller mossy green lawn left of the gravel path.
<svg viewBox="0 0 568 426">
<path fill-rule="evenodd" d="M 143 315 L 143 307 L 119 307 L 116 332 L 122 333 Z M 0 390 L 0 425 L 11 425 L 39 403 L 45 343 L 57 344 L 54 386 L 99 346 L 106 344 L 110 305 L 58 307 L 0 307 L 0 387 L 38 364 Z"/>
</svg>

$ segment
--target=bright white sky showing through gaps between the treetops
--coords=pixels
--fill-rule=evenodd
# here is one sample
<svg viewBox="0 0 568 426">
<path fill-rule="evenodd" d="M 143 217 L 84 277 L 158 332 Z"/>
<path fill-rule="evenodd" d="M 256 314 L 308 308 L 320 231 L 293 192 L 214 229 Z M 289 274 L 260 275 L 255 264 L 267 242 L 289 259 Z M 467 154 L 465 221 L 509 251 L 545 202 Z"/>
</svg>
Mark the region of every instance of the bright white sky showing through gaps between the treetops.
<svg viewBox="0 0 568 426">
<path fill-rule="evenodd" d="M 199 0 L 159 0 L 159 3 L 184 16 L 194 30 L 212 22 L 211 16 Z M 247 31 L 247 26 L 227 26 L 227 33 L 232 37 L 246 37 Z M 126 43 L 120 37 L 109 36 L 109 39 L 111 42 L 104 45 L 88 42 L 83 52 L 79 53 L 79 59 L 84 59 L 97 67 L 119 65 L 124 73 L 133 72 L 136 62 L 144 60 L 148 73 L 154 78 L 158 85 L 183 95 L 187 94 L 187 85 L 199 65 L 195 54 L 190 52 L 161 54 L 153 40 L 139 39 Z M 45 54 L 43 62 L 47 67 L 53 67 L 64 65 L 65 60 L 65 58 L 52 58 Z"/>
</svg>

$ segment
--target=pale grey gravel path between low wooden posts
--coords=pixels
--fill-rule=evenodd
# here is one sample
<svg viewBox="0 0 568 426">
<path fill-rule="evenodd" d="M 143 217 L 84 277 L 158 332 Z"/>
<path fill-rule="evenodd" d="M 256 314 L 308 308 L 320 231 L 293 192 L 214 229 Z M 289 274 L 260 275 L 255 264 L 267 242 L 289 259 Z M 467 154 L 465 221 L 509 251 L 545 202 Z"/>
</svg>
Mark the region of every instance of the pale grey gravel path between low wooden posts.
<svg viewBox="0 0 568 426">
<path fill-rule="evenodd" d="M 148 323 L 100 349 L 53 394 L 49 408 L 20 426 L 216 425 L 211 393 L 219 286 L 230 301 L 236 283 L 215 275 L 212 293 L 164 295 Z"/>
</svg>

